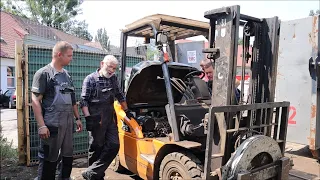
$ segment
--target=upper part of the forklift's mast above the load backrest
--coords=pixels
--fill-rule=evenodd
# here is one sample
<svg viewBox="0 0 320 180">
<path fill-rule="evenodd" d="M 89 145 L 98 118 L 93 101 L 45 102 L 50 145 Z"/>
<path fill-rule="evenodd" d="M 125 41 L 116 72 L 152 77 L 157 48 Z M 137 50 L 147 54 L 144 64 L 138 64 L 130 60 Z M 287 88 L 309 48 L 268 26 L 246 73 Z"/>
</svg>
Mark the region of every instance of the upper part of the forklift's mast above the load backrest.
<svg viewBox="0 0 320 180">
<path fill-rule="evenodd" d="M 255 18 L 240 14 L 240 6 L 224 7 L 205 12 L 210 20 L 209 48 L 204 49 L 215 62 L 212 105 L 230 105 L 234 96 L 237 68 L 239 27 L 243 27 L 242 76 L 251 59 L 249 104 L 273 102 L 280 21 L 278 17 Z M 254 39 L 252 52 L 250 40 Z M 243 81 L 241 83 L 243 90 Z M 242 92 L 243 93 L 243 92 Z M 243 104 L 243 95 L 240 98 Z"/>
</svg>

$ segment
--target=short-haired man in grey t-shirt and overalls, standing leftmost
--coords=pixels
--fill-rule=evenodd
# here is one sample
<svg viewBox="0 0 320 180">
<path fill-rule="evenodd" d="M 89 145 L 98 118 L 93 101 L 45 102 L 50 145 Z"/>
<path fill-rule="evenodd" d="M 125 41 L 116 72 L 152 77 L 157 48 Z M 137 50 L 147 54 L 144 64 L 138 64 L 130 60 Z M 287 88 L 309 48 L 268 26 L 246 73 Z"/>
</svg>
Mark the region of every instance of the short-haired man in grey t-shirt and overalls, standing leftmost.
<svg viewBox="0 0 320 180">
<path fill-rule="evenodd" d="M 82 123 L 76 105 L 71 76 L 63 68 L 73 55 L 72 46 L 58 42 L 52 50 L 52 62 L 33 76 L 32 108 L 40 136 L 38 180 L 54 180 L 58 157 L 62 158 L 59 179 L 69 180 L 73 162 L 73 129 Z"/>
</svg>

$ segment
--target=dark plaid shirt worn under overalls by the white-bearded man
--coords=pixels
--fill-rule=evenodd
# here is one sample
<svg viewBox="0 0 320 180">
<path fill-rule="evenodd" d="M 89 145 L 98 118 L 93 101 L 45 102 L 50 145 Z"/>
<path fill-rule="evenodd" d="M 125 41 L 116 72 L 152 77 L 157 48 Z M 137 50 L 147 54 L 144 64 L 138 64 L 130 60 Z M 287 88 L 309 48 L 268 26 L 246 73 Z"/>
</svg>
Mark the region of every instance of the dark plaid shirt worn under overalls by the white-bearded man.
<svg viewBox="0 0 320 180">
<path fill-rule="evenodd" d="M 96 80 L 99 79 L 99 69 L 97 71 L 89 74 L 84 80 L 82 84 L 82 92 L 81 92 L 81 101 L 80 107 L 87 106 L 89 102 L 94 98 L 94 91 L 96 90 Z M 101 79 L 100 79 L 101 81 Z M 101 82 L 100 82 L 101 83 Z M 115 75 L 111 76 L 110 78 L 102 78 L 102 86 L 106 86 L 106 84 L 112 84 L 114 96 L 117 98 L 119 102 L 126 101 L 126 98 L 119 88 L 119 83 L 117 77 Z"/>
</svg>

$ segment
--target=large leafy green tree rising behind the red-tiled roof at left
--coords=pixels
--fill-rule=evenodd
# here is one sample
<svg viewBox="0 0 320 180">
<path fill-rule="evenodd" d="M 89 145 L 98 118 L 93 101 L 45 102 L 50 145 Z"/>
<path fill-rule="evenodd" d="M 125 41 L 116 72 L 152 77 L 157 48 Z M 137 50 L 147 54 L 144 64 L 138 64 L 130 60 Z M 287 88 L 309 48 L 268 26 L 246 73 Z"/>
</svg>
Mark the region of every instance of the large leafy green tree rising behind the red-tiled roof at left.
<svg viewBox="0 0 320 180">
<path fill-rule="evenodd" d="M 74 18 L 81 13 L 81 0 L 25 0 L 25 8 L 21 8 L 18 0 L 1 1 L 1 10 L 29 18 L 40 24 L 54 27 L 65 33 L 77 36 L 88 41 L 92 35 L 88 31 L 86 21 L 77 21 Z M 22 3 L 21 3 L 22 2 Z"/>
</svg>

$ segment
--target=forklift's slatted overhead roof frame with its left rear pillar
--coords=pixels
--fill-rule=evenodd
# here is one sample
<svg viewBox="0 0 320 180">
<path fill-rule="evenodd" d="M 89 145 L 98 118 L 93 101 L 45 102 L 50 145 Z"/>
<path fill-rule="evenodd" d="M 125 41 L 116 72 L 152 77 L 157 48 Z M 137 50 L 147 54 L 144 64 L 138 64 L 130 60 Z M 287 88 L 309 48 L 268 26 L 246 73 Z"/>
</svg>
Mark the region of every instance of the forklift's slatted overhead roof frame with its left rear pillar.
<svg viewBox="0 0 320 180">
<path fill-rule="evenodd" d="M 121 73 L 120 73 L 120 87 L 124 91 L 125 85 L 125 69 L 126 69 L 126 47 L 127 38 L 130 37 L 144 37 L 156 39 L 159 31 L 169 33 L 168 41 L 170 48 L 174 48 L 175 40 L 185 39 L 189 37 L 203 35 L 208 39 L 210 24 L 204 21 L 187 19 L 183 17 L 176 17 L 165 14 L 154 14 L 141 18 L 121 29 Z M 174 52 L 174 51 L 171 51 Z"/>
</svg>

